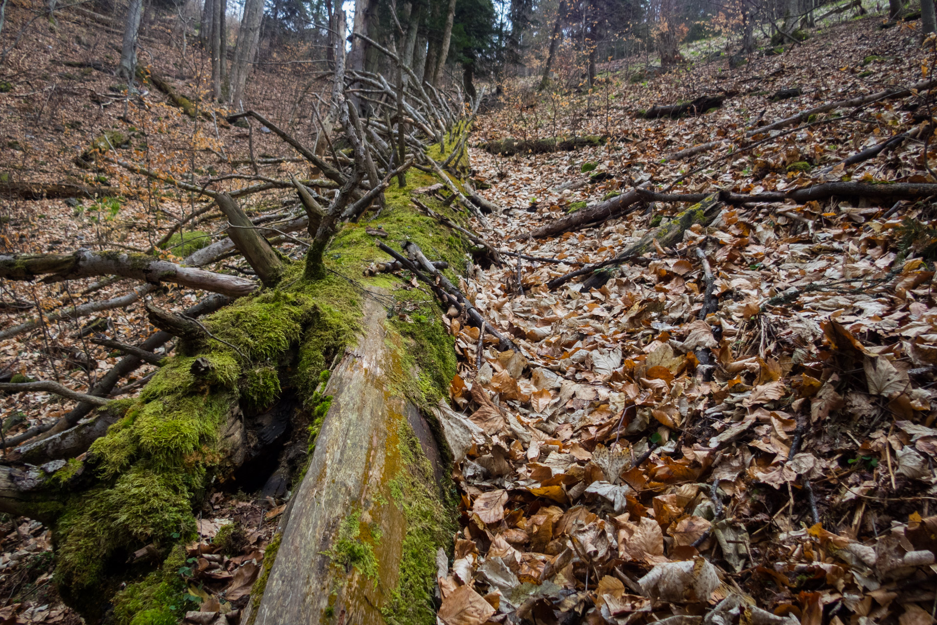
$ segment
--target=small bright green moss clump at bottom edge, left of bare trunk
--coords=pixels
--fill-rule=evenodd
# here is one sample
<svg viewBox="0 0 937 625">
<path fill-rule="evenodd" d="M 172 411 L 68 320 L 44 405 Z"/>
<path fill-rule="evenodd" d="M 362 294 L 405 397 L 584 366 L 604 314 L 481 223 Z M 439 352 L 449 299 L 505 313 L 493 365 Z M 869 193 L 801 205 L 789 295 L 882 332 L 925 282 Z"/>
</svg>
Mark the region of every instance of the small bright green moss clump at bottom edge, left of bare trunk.
<svg viewBox="0 0 937 625">
<path fill-rule="evenodd" d="M 175 625 L 186 611 L 197 609 L 179 573 L 186 566 L 186 551 L 174 547 L 158 571 L 128 585 L 114 595 L 116 625 Z"/>
</svg>

